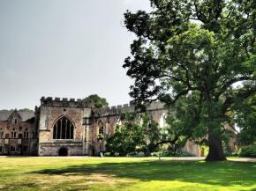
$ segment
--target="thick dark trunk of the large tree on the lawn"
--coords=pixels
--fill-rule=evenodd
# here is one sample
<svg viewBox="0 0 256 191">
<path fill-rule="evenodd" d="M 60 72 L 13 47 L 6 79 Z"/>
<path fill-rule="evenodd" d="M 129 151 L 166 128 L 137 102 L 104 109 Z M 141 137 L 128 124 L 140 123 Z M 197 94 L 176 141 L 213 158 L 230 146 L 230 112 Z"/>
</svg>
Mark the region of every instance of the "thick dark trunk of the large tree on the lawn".
<svg viewBox="0 0 256 191">
<path fill-rule="evenodd" d="M 209 153 L 206 161 L 226 160 L 223 152 L 222 139 L 220 136 L 213 133 L 208 134 Z"/>
</svg>

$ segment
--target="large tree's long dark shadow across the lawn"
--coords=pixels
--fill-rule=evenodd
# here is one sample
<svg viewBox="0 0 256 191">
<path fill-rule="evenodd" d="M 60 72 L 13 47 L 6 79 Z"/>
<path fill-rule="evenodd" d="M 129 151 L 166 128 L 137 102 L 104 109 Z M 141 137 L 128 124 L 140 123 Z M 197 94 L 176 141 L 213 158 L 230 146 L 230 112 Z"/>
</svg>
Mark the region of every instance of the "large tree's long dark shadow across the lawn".
<svg viewBox="0 0 256 191">
<path fill-rule="evenodd" d="M 43 169 L 32 172 L 49 175 L 83 175 L 101 173 L 117 178 L 141 181 L 178 180 L 182 182 L 219 185 L 223 187 L 242 185 L 251 187 L 256 180 L 256 164 L 224 161 L 142 161 L 126 163 L 101 163 L 71 165 L 58 169 Z"/>
</svg>

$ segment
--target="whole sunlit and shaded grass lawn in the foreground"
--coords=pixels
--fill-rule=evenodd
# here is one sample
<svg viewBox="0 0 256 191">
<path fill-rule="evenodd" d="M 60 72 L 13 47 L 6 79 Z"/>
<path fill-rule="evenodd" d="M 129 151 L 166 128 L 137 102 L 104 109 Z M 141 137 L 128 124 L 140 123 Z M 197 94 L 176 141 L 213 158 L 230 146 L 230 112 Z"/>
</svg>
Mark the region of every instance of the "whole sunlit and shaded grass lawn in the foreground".
<svg viewBox="0 0 256 191">
<path fill-rule="evenodd" d="M 0 190 L 255 190 L 256 163 L 0 158 Z"/>
</svg>

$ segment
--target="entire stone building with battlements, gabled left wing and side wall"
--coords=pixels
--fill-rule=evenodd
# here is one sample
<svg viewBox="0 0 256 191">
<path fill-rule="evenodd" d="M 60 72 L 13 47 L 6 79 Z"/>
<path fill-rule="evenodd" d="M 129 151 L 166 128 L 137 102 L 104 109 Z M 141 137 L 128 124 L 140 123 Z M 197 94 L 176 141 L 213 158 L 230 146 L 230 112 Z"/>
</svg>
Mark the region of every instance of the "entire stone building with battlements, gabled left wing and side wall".
<svg viewBox="0 0 256 191">
<path fill-rule="evenodd" d="M 120 115 L 134 111 L 134 107 L 129 105 L 93 109 L 81 99 L 42 97 L 41 106 L 35 107 L 34 114 L 29 115 L 30 119 L 18 111 L 14 111 L 8 117 L 5 115 L 5 118 L 1 118 L 0 113 L 0 149 L 1 145 L 3 148 L 0 155 L 95 155 L 105 150 L 104 140 L 112 136 L 116 125 L 122 122 Z M 165 125 L 167 110 L 162 103 L 154 102 L 147 107 L 147 113 L 160 126 Z M 22 129 L 19 130 L 19 127 Z M 20 132 L 15 138 L 9 137 L 12 135 L 12 129 Z M 25 135 L 26 129 L 29 136 L 21 137 L 19 134 Z M 104 135 L 103 141 L 98 139 L 99 134 Z M 15 151 L 11 149 L 13 146 Z M 194 156 L 200 155 L 200 147 L 197 144 L 188 142 L 184 149 Z"/>
</svg>

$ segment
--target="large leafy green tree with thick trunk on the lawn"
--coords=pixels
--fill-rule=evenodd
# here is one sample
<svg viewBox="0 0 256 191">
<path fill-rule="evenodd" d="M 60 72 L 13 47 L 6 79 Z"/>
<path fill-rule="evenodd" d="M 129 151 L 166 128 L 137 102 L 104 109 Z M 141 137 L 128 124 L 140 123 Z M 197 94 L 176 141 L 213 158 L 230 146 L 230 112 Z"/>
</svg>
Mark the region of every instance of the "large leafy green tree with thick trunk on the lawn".
<svg viewBox="0 0 256 191">
<path fill-rule="evenodd" d="M 256 92 L 255 0 L 151 0 L 152 11 L 124 13 L 137 35 L 125 59 L 141 106 L 160 99 L 177 107 L 177 126 L 207 136 L 207 160 L 224 160 L 230 109 Z M 177 123 L 179 121 L 179 123 Z"/>
</svg>

